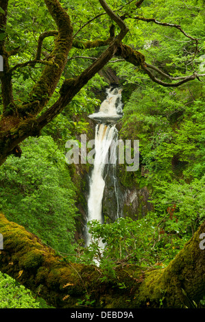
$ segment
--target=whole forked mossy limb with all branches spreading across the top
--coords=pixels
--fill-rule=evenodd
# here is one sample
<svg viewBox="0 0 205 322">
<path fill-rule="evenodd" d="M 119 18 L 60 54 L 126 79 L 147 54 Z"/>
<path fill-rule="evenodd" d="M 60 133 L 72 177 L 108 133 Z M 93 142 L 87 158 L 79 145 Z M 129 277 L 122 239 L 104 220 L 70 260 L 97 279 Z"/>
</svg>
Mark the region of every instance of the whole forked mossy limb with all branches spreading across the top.
<svg viewBox="0 0 205 322">
<path fill-rule="evenodd" d="M 0 4 L 2 1 L 3 0 L 0 0 Z M 45 68 L 43 69 L 40 78 L 32 88 L 32 91 L 29 93 L 27 101 L 25 101 L 22 106 L 14 106 L 14 110 L 12 110 L 13 114 L 9 115 L 11 117 L 3 115 L 0 120 L 0 165 L 5 161 L 7 156 L 14 150 L 14 148 L 23 140 L 25 140 L 25 138 L 27 138 L 28 136 L 38 136 L 40 134 L 40 129 L 42 129 L 60 112 L 62 112 L 67 104 L 71 102 L 73 97 L 75 97 L 77 92 L 79 92 L 81 88 L 83 88 L 84 85 L 87 84 L 87 82 L 98 71 L 100 71 L 108 62 L 113 62 L 113 60 L 111 59 L 114 57 L 114 55 L 119 56 L 119 58 L 121 58 L 122 60 L 130 62 L 134 66 L 138 66 L 144 73 L 149 76 L 150 79 L 152 79 L 153 82 L 156 82 L 161 86 L 177 87 L 193 79 L 200 80 L 200 77 L 204 77 L 204 74 L 198 75 L 197 73 L 193 73 L 193 75 L 184 77 L 171 77 L 157 67 L 147 64 L 145 62 L 145 56 L 142 53 L 122 43 L 123 38 L 128 33 L 128 27 L 125 25 L 123 18 L 117 16 L 117 14 L 108 6 L 106 1 L 99 0 L 99 3 L 101 4 L 102 8 L 104 8 L 105 14 L 108 14 L 113 22 L 110 26 L 110 36 L 106 40 L 93 40 L 88 42 L 73 40 L 73 28 L 71 26 L 71 21 L 67 12 L 61 7 L 58 0 L 45 0 L 45 4 L 47 5 L 51 16 L 56 22 L 58 30 L 45 32 L 40 35 L 38 39 L 36 58 L 34 60 L 22 64 L 17 64 L 13 67 L 13 69 L 10 69 L 9 65 L 7 65 L 8 60 L 5 59 L 5 73 L 0 74 L 1 77 L 3 77 L 3 84 L 5 84 L 5 86 L 6 84 L 12 84 L 11 82 L 5 82 L 5 79 L 7 79 L 6 77 L 10 77 L 11 80 L 12 73 L 9 73 L 8 71 L 14 71 L 19 67 L 27 65 L 34 66 L 36 63 L 44 64 Z M 140 6 L 142 3 L 142 0 L 136 2 L 136 7 Z M 1 18 L 2 15 L 0 14 L 0 23 Z M 153 20 L 149 21 L 151 22 Z M 117 24 L 120 29 L 117 36 L 115 36 L 114 34 L 114 24 Z M 164 23 L 162 24 L 165 25 Z M 180 25 L 166 25 L 169 25 L 171 27 L 175 26 L 178 29 L 180 28 Z M 185 35 L 187 34 L 185 33 Z M 43 40 L 47 36 L 56 36 L 53 51 L 49 55 L 49 60 L 40 60 Z M 197 39 L 195 38 L 190 39 L 197 41 Z M 93 63 L 75 79 L 66 79 L 66 81 L 60 88 L 60 97 L 53 104 L 53 106 L 44 111 L 43 108 L 46 106 L 51 95 L 53 95 L 62 72 L 64 71 L 64 67 L 67 64 L 67 60 L 73 59 L 68 58 L 70 49 L 72 47 L 88 49 L 100 46 L 106 46 L 106 49 L 103 51 L 103 53 L 101 53 L 99 58 L 87 58 L 87 56 L 85 56 L 85 59 L 91 59 L 93 60 Z M 0 49 L 5 50 L 3 47 L 3 42 L 0 42 Z M 6 53 L 5 56 L 8 57 L 8 53 Z M 173 83 L 163 82 L 162 80 L 158 79 L 154 75 L 154 73 L 152 73 L 152 71 L 155 71 L 162 77 L 173 81 Z M 10 93 L 12 95 L 12 91 Z M 5 99 L 3 103 L 4 106 L 6 106 Z M 10 97 L 8 103 L 12 103 L 12 97 Z M 40 112 L 42 113 L 40 114 L 40 116 L 38 116 Z"/>
</svg>

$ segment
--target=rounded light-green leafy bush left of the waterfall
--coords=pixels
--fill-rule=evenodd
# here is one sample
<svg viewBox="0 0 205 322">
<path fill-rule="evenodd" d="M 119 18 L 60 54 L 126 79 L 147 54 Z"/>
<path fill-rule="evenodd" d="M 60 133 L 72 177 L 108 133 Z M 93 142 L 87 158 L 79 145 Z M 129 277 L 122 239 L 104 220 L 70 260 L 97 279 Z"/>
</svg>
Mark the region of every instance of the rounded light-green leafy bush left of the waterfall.
<svg viewBox="0 0 205 322">
<path fill-rule="evenodd" d="M 24 141 L 23 156 L 0 171 L 0 209 L 58 251 L 71 251 L 75 188 L 64 154 L 49 136 Z"/>
</svg>

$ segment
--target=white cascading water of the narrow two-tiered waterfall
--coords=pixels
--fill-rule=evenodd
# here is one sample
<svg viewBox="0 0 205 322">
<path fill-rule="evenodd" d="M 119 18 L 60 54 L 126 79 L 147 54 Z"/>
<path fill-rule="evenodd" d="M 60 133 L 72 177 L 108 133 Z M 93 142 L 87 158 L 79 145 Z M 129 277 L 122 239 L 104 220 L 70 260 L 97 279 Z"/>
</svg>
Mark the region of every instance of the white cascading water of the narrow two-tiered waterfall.
<svg viewBox="0 0 205 322">
<path fill-rule="evenodd" d="M 88 195 L 88 221 L 104 222 L 102 214 L 102 199 L 105 188 L 105 166 L 112 166 L 114 191 L 117 194 L 117 178 L 115 169 L 117 164 L 117 138 L 116 122 L 122 117 L 121 89 L 110 88 L 107 97 L 101 103 L 99 112 L 90 115 L 97 123 L 95 127 L 95 160 L 90 178 L 90 191 Z M 119 214 L 117 214 L 119 216 Z M 87 234 L 87 245 L 90 245 L 90 236 Z M 99 247 L 104 248 L 103 243 Z"/>
</svg>

